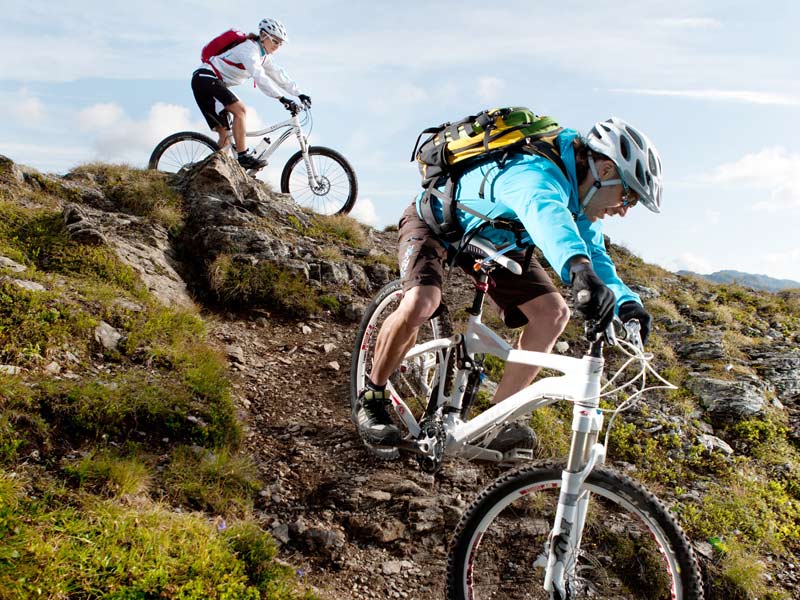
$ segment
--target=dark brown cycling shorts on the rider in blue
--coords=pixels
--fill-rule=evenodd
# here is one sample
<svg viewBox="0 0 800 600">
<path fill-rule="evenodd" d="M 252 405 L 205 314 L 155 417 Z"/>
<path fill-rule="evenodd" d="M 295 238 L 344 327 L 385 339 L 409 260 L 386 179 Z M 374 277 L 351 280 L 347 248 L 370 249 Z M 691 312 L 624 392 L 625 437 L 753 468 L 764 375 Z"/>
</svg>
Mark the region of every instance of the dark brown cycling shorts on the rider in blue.
<svg viewBox="0 0 800 600">
<path fill-rule="evenodd" d="M 417 214 L 416 203 L 412 203 L 400 217 L 398 226 L 397 256 L 403 290 L 407 292 L 420 285 L 442 289 L 447 254 L 444 242 L 428 228 Z M 509 252 L 506 256 L 520 264 L 525 262 L 523 252 Z M 474 274 L 473 263 L 474 260 L 464 254 L 456 259 L 456 264 L 470 276 Z M 492 279 L 495 285 L 490 288 L 489 296 L 500 307 L 509 327 L 522 327 L 528 322 L 517 307 L 544 294 L 558 293 L 536 257 L 531 258 L 522 275 L 500 268 L 492 271 Z"/>
</svg>

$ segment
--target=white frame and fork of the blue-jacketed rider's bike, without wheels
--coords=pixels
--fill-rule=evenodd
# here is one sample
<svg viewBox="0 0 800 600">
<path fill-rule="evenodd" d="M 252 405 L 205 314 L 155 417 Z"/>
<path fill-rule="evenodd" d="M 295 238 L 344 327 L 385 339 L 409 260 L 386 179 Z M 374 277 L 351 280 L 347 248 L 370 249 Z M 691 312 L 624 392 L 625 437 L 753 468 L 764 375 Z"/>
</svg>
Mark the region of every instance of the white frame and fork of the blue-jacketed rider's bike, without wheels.
<svg viewBox="0 0 800 600">
<path fill-rule="evenodd" d="M 479 287 L 479 290 L 481 288 Z M 556 510 L 553 529 L 548 548 L 540 556 L 537 566 L 545 568 L 544 589 L 558 591 L 566 595 L 565 574 L 577 560 L 580 549 L 590 494 L 582 490 L 589 473 L 605 460 L 606 448 L 598 442 L 603 426 L 603 413 L 600 404 L 600 377 L 605 361 L 602 358 L 602 342 L 595 342 L 589 354 L 582 358 L 559 356 L 545 352 L 515 350 L 508 342 L 481 322 L 483 296 L 479 291 L 478 309 L 470 317 L 466 332 L 452 338 L 437 339 L 413 347 L 405 359 L 425 356 L 431 351 L 444 352 L 452 360 L 453 351 L 462 345 L 467 362 L 474 360 L 475 354 L 492 354 L 506 362 L 539 366 L 563 373 L 560 376 L 545 377 L 509 396 L 477 417 L 464 421 L 461 417 L 461 404 L 464 397 L 470 366 L 460 364 L 456 372 L 452 395 L 447 396 L 439 389 L 436 399 L 437 412 L 443 412 L 443 425 L 447 434 L 445 454 L 475 458 L 501 460 L 500 452 L 474 446 L 473 442 L 499 430 L 506 423 L 560 400 L 573 403 L 572 439 L 566 468 L 562 471 L 561 493 Z M 421 437 L 421 428 L 408 406 L 392 393 L 392 405 L 398 417 L 417 440 L 416 450 L 426 453 L 430 450 L 430 440 Z M 414 449 L 413 447 L 411 449 Z"/>
</svg>

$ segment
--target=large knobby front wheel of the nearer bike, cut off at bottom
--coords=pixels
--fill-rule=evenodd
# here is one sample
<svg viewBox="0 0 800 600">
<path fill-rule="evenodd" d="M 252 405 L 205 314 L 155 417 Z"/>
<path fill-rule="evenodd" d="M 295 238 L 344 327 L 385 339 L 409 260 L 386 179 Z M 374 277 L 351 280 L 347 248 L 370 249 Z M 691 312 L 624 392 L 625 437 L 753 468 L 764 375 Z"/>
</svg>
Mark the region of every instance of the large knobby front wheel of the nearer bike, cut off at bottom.
<svg viewBox="0 0 800 600">
<path fill-rule="evenodd" d="M 664 504 L 640 484 L 595 469 L 580 550 L 565 564 L 566 595 L 544 590 L 548 537 L 561 469 L 527 466 L 484 490 L 464 513 L 450 549 L 450 600 L 488 598 L 699 599 L 690 542 Z"/>
</svg>

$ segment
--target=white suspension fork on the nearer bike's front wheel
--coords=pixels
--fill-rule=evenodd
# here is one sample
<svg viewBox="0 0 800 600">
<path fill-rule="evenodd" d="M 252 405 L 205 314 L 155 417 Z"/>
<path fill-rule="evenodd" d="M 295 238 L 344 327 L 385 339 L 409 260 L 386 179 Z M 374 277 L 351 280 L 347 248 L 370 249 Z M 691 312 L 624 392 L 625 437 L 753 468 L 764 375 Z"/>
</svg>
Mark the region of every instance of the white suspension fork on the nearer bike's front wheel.
<svg viewBox="0 0 800 600">
<path fill-rule="evenodd" d="M 578 560 L 583 527 L 589 510 L 589 492 L 583 488 L 589 473 L 605 460 L 606 449 L 597 443 L 603 413 L 594 407 L 573 408 L 572 443 L 567 468 L 561 474 L 561 493 L 548 542 L 544 589 L 566 596 L 565 576 Z"/>
</svg>

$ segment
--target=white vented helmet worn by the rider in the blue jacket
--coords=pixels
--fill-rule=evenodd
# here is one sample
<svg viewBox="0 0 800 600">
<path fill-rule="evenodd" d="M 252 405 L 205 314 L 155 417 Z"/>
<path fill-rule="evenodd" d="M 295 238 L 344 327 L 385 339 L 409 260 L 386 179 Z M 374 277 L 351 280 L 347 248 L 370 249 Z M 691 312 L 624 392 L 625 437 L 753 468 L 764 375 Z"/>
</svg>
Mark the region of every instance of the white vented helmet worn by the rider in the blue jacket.
<svg viewBox="0 0 800 600">
<path fill-rule="evenodd" d="M 619 117 L 611 117 L 592 127 L 586 145 L 617 165 L 620 176 L 642 204 L 661 212 L 661 155 L 650 138 Z"/>
</svg>

